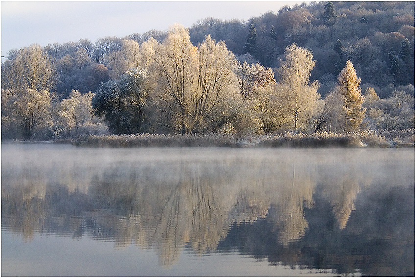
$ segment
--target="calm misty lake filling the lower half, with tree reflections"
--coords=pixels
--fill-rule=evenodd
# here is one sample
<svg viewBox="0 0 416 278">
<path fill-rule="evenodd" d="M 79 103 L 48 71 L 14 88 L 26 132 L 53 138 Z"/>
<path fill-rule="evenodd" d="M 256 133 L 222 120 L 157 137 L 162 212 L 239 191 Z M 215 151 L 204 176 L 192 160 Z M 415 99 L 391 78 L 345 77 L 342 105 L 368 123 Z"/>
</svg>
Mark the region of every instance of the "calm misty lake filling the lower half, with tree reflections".
<svg viewBox="0 0 416 278">
<path fill-rule="evenodd" d="M 1 146 L 2 276 L 414 276 L 414 149 Z"/>
</svg>

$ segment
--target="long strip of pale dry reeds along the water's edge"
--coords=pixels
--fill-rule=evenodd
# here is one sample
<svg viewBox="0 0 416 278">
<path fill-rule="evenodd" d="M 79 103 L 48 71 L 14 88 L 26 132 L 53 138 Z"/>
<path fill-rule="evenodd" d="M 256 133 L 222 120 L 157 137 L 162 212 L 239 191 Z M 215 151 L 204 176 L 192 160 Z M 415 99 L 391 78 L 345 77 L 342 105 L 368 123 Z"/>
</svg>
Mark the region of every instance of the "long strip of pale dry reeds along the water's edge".
<svg viewBox="0 0 416 278">
<path fill-rule="evenodd" d="M 392 139 L 393 138 L 393 139 Z M 397 139 L 402 139 L 397 141 Z M 411 141 L 413 139 L 413 142 Z M 406 141 L 404 141 L 406 140 Z M 409 141 L 410 140 L 410 141 Z M 402 133 L 361 131 L 354 133 L 284 133 L 240 137 L 233 134 L 204 135 L 89 135 L 76 139 L 73 144 L 82 147 L 406 147 L 414 146 L 414 131 Z"/>
</svg>

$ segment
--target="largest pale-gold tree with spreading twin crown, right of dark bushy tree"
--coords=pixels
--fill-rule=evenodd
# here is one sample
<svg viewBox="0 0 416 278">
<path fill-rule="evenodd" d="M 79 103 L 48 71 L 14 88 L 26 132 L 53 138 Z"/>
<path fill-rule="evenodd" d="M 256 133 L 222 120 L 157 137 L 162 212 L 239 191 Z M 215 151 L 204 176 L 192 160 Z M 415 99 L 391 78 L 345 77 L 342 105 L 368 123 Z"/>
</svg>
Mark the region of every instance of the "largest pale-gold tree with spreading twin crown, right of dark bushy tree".
<svg viewBox="0 0 416 278">
<path fill-rule="evenodd" d="M 171 27 L 155 51 L 157 89 L 161 108 L 170 119 L 165 123 L 185 133 L 201 133 L 225 114 L 233 90 L 233 54 L 224 42 L 209 35 L 198 47 L 180 25 Z"/>
</svg>

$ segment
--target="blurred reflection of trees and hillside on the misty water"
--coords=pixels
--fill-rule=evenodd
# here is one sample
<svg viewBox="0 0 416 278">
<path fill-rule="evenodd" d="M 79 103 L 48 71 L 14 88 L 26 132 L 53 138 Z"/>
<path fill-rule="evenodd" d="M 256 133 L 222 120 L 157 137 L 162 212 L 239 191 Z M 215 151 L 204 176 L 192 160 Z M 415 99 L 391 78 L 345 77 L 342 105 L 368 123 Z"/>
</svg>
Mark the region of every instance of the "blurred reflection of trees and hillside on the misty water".
<svg viewBox="0 0 416 278">
<path fill-rule="evenodd" d="M 16 167 L 6 160 L 12 151 L 6 148 L 2 159 L 2 228 L 26 241 L 39 233 L 92 236 L 112 240 L 116 248 L 135 244 L 155 249 L 165 267 L 178 261 L 185 246 L 199 255 L 234 248 L 322 268 L 372 254 L 363 248 L 353 255 L 340 246 L 351 235 L 361 245 L 390 238 L 391 246 L 411 244 L 414 250 L 411 152 L 213 149 L 201 155 L 186 149 L 187 155 L 177 150 L 176 157 L 165 160 L 163 149 L 153 150 L 153 159 L 143 159 L 144 150 L 138 151 L 142 156 L 124 152 L 120 159 L 122 151 L 114 150 L 100 160 L 96 150 L 100 163 L 82 156 L 36 163 L 42 158 L 32 157 Z M 340 155 L 346 162 L 338 161 Z M 403 194 L 394 188 L 403 188 Z M 385 202 L 393 213 L 406 215 L 383 222 L 389 217 Z M 384 215 L 374 211 L 377 206 Z M 369 220 L 363 213 L 368 208 L 373 227 L 362 223 Z M 242 237 L 235 241 L 236 236 Z M 317 264 L 323 244 L 325 259 Z M 346 268 L 360 267 L 349 263 Z"/>
</svg>

